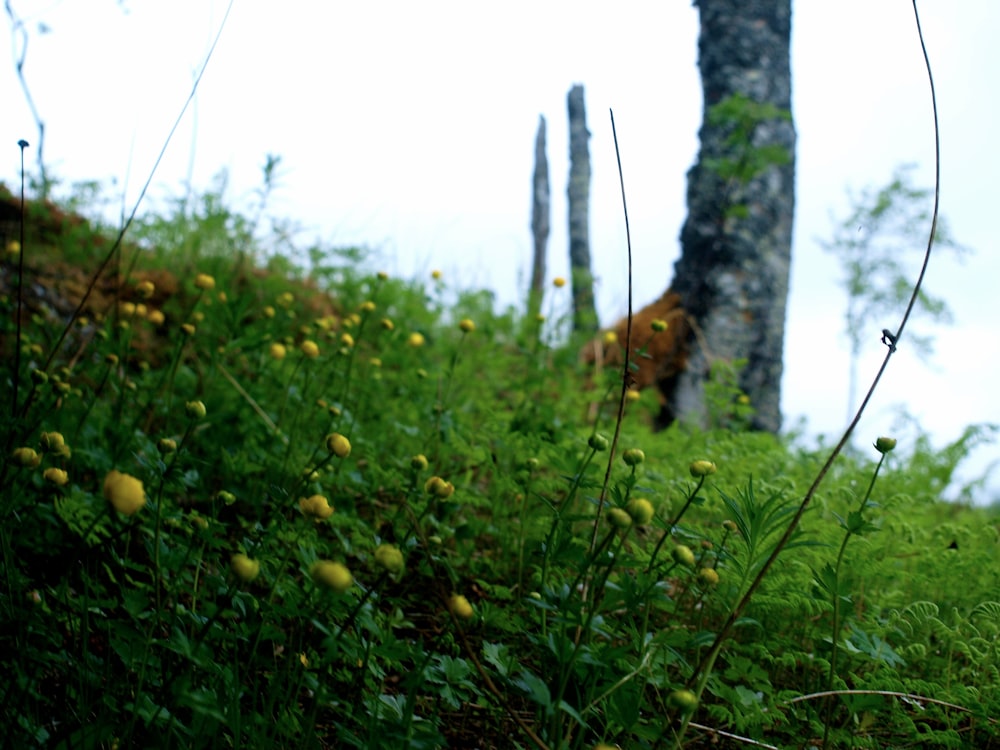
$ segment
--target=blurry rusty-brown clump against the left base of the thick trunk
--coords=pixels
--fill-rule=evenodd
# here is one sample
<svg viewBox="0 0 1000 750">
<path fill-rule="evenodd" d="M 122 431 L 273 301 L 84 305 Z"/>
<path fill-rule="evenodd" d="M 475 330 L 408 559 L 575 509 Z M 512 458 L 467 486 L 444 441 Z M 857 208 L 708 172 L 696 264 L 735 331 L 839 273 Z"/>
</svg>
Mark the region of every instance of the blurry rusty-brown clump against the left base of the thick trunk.
<svg viewBox="0 0 1000 750">
<path fill-rule="evenodd" d="M 681 372 L 687 361 L 690 324 L 680 302 L 680 296 L 668 289 L 658 300 L 632 316 L 632 354 L 629 359 L 638 367 L 631 368 L 632 387 L 657 388 L 661 404 L 657 419 L 659 427 L 665 427 L 674 419 L 659 384 Z M 666 323 L 666 330 L 655 331 L 654 320 Z M 581 353 L 583 361 L 593 365 L 595 373 L 599 373 L 605 366 L 620 370 L 627 330 L 628 319 L 622 318 L 613 328 L 584 346 Z"/>
</svg>

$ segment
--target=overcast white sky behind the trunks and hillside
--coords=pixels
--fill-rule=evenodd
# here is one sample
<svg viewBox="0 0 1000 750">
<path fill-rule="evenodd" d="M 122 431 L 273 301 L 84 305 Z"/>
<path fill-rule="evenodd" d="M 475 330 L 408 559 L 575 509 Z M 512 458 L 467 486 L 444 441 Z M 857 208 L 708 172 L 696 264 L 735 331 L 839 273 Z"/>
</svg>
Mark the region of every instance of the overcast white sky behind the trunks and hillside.
<svg viewBox="0 0 1000 750">
<path fill-rule="evenodd" d="M 25 74 L 46 122 L 45 153 L 66 180 L 126 184 L 131 204 L 190 91 L 225 12 L 222 0 L 11 0 L 30 30 Z M 123 11 L 124 7 L 124 11 Z M 905 403 L 938 442 L 974 422 L 1000 423 L 995 248 L 1000 125 L 1000 3 L 923 0 L 942 127 L 942 211 L 975 249 L 932 260 L 928 287 L 955 325 L 928 330 L 936 354 L 905 345 L 859 441 L 892 430 Z M 7 19 L 5 19 L 7 20 Z M 39 24 L 50 29 L 39 33 Z M 9 23 L 8 23 L 9 27 Z M 303 239 L 364 244 L 398 274 L 440 268 L 465 286 L 517 302 L 530 268 L 531 173 L 539 114 L 548 121 L 550 275 L 566 272 L 566 94 L 586 88 L 593 164 L 591 244 L 602 319 L 625 312 L 624 224 L 608 110 L 622 149 L 636 304 L 667 287 L 697 150 L 701 93 L 697 10 L 686 0 L 331 2 L 244 0 L 233 8 L 194 109 L 155 181 L 154 197 L 206 187 L 229 169 L 233 197 L 282 157 L 275 212 Z M 906 0 L 793 4 L 797 206 L 783 383 L 785 424 L 844 425 L 844 296 L 819 249 L 845 190 L 881 186 L 916 163 L 932 184 L 928 86 Z M 19 138 L 37 132 L 0 37 L 0 180 L 17 180 Z M 4 59 L 9 62 L 4 62 Z M 28 152 L 33 159 L 33 152 Z M 914 269 L 919 264 L 914 250 Z M 883 349 L 874 320 L 861 366 Z M 915 325 L 920 325 L 916 321 Z M 977 466 L 1000 455 L 981 449 Z"/>
</svg>

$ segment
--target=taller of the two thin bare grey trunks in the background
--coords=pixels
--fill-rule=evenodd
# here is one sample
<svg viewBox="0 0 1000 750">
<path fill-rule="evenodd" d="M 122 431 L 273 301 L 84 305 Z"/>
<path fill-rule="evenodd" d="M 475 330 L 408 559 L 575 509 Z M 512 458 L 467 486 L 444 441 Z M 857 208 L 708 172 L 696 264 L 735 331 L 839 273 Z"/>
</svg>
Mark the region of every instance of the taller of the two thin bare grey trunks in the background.
<svg viewBox="0 0 1000 750">
<path fill-rule="evenodd" d="M 569 108 L 569 265 L 573 285 L 573 329 L 597 330 L 594 277 L 590 271 L 590 148 L 583 86 L 573 86 Z"/>
</svg>

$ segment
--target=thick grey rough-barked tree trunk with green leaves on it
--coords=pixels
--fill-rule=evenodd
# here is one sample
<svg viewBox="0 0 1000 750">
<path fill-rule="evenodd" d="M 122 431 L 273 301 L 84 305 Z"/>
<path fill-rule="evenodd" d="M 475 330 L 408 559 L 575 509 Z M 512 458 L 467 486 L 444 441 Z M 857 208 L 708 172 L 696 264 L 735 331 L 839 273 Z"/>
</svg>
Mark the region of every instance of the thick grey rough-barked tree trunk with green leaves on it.
<svg viewBox="0 0 1000 750">
<path fill-rule="evenodd" d="M 791 0 L 695 4 L 705 116 L 698 160 L 688 172 L 688 217 L 672 289 L 698 330 L 689 338 L 687 368 L 660 387 L 673 413 L 704 423 L 710 367 L 745 359 L 738 382 L 756 410 L 752 426 L 776 432 L 795 203 L 795 129 L 787 112 Z M 710 117 L 726 100 L 748 109 L 770 105 L 753 111 L 772 116 L 754 121 L 746 129 L 749 142 L 740 144 L 734 133 L 746 121 Z M 785 117 L 773 116 L 773 108 Z M 783 164 L 775 157 L 782 151 Z"/>
</svg>

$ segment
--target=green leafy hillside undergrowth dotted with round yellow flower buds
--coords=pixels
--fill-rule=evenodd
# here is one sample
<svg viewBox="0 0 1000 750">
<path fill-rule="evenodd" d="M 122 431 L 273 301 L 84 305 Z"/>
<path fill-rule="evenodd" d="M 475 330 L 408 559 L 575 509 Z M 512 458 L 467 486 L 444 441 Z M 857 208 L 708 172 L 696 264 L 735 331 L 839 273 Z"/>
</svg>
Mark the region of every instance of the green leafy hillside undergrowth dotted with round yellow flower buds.
<svg viewBox="0 0 1000 750">
<path fill-rule="evenodd" d="M 706 661 L 823 460 L 741 429 L 724 373 L 713 429 L 654 434 L 629 392 L 615 440 L 559 280 L 527 319 L 357 249 L 268 256 L 220 195 L 110 255 L 30 208 L 5 746 L 1000 746 L 1000 526 L 941 500 L 989 428 L 868 436 Z"/>
</svg>

